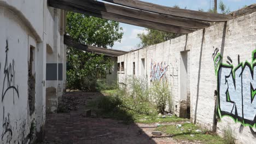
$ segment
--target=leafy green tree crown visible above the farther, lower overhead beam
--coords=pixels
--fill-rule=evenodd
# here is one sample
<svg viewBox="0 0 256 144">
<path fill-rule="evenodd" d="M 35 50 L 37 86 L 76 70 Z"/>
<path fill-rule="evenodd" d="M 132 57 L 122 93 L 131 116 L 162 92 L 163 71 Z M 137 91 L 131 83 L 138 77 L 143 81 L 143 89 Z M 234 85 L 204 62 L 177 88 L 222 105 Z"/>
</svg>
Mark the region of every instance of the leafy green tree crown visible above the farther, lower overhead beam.
<svg viewBox="0 0 256 144">
<path fill-rule="evenodd" d="M 67 33 L 80 43 L 98 47 L 112 47 L 121 41 L 123 28 L 119 22 L 68 12 Z"/>
</svg>

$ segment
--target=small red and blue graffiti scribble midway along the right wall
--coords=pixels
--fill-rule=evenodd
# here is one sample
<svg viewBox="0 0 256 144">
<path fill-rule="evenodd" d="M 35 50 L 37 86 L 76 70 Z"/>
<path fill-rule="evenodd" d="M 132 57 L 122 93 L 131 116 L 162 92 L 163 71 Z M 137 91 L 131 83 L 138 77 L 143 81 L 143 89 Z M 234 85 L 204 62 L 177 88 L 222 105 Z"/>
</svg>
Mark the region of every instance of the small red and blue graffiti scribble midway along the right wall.
<svg viewBox="0 0 256 144">
<path fill-rule="evenodd" d="M 156 64 L 151 62 L 151 71 L 150 71 L 150 79 L 151 81 L 161 81 L 165 76 L 166 71 L 168 70 L 168 66 L 166 63 Z"/>
</svg>

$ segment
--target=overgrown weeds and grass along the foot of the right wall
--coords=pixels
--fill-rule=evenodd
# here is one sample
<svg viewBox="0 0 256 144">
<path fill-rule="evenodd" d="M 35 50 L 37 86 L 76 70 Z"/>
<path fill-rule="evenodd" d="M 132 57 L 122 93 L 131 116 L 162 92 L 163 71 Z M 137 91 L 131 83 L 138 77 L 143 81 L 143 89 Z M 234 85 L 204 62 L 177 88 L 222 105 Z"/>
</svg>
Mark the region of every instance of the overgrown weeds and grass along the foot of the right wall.
<svg viewBox="0 0 256 144">
<path fill-rule="evenodd" d="M 159 123 L 155 130 L 162 131 L 177 141 L 231 144 L 232 133 L 228 129 L 224 134 L 226 139 L 222 139 L 217 134 L 201 130 L 190 123 L 189 119 L 174 115 L 159 115 L 160 111 L 166 114 L 164 105 L 168 103 L 168 100 L 171 101 L 168 98 L 170 92 L 164 85 L 166 83 L 154 82 L 154 86 L 149 89 L 143 80 L 134 77 L 130 77 L 127 82 L 129 83 L 127 87 L 129 86 L 132 91 L 125 92 L 124 89 L 119 88 L 104 90 L 102 93 L 106 96 L 91 101 L 86 109 L 91 109 L 103 118 L 122 120 L 125 124 L 132 122 Z"/>
</svg>

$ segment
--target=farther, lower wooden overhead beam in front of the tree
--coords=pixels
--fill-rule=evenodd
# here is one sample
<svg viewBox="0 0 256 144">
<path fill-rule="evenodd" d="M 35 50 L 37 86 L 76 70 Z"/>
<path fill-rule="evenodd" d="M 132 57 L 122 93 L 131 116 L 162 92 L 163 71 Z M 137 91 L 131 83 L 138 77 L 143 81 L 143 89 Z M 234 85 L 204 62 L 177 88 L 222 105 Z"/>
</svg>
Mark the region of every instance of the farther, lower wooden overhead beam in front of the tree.
<svg viewBox="0 0 256 144">
<path fill-rule="evenodd" d="M 110 57 L 118 57 L 118 56 L 125 55 L 126 53 L 128 53 L 126 51 L 106 49 L 103 47 L 96 47 L 96 46 L 91 46 L 91 45 L 84 45 L 82 43 L 75 41 L 68 35 L 64 35 L 64 44 L 68 45 L 68 46 L 72 46 L 75 49 L 79 49 L 82 51 L 96 53 L 96 54 L 104 54 L 105 56 L 110 56 Z"/>
</svg>

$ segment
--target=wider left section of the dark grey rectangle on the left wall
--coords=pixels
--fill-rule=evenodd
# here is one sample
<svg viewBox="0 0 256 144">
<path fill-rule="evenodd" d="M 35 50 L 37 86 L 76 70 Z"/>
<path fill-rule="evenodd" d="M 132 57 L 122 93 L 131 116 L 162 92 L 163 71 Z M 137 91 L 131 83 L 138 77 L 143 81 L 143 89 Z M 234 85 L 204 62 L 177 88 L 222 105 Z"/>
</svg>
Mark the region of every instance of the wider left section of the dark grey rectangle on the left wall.
<svg viewBox="0 0 256 144">
<path fill-rule="evenodd" d="M 46 63 L 46 81 L 57 80 L 57 63 Z"/>
</svg>

